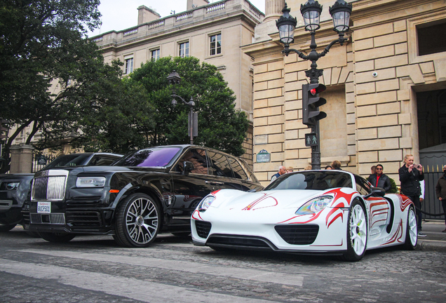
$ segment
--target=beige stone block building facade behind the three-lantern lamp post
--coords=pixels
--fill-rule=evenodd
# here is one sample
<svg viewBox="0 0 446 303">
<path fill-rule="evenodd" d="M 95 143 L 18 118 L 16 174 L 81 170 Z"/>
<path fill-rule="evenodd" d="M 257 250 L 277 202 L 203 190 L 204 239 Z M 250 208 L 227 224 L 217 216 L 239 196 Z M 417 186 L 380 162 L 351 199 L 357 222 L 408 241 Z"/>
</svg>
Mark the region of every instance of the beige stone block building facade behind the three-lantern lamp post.
<svg viewBox="0 0 446 303">
<path fill-rule="evenodd" d="M 268 184 L 278 166 L 302 170 L 311 162 L 305 147 L 309 128 L 302 124 L 302 84 L 308 83 L 308 61 L 295 53 L 281 54 L 275 20 L 283 0 L 266 0 L 264 22 L 255 29 L 255 42 L 243 47 L 254 58 L 254 169 Z M 323 5 L 316 43 L 320 52 L 337 39 Z M 398 168 L 405 154 L 419 163 L 419 150 L 446 143 L 446 1 L 358 0 L 353 4 L 349 41 L 334 45 L 318 60 L 323 69 L 320 110 L 322 167 L 333 160 L 342 168 L 367 177 L 382 163 L 384 173 L 399 183 Z M 288 0 L 297 18 L 291 48 L 309 53 L 300 4 Z M 445 122 L 443 122 L 445 121 Z M 257 163 L 266 151 L 271 162 Z"/>
</svg>

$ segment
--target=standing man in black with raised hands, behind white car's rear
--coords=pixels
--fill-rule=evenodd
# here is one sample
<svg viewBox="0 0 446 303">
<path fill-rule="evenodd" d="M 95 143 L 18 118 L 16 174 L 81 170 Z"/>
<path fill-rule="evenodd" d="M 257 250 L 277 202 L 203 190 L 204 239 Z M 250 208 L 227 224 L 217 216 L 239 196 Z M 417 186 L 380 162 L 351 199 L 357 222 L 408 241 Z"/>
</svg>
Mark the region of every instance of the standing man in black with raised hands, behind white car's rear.
<svg viewBox="0 0 446 303">
<path fill-rule="evenodd" d="M 414 156 L 411 154 L 404 156 L 404 165 L 398 170 L 401 182 L 401 192 L 408 196 L 415 204 L 417 210 L 418 236 L 426 236 L 421 232 L 421 202 L 419 195 L 421 188 L 419 182 L 424 180 L 423 166 L 414 165 Z"/>
</svg>

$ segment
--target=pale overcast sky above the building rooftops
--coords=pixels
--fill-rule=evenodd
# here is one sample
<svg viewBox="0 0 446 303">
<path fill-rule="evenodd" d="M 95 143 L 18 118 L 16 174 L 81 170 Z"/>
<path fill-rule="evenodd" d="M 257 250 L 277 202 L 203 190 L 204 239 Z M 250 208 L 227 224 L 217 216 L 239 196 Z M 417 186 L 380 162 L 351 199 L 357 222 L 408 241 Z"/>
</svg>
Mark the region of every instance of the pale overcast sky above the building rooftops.
<svg viewBox="0 0 446 303">
<path fill-rule="evenodd" d="M 210 0 L 210 3 L 217 1 Z M 262 13 L 265 12 L 265 0 L 249 1 Z M 121 31 L 136 26 L 137 8 L 142 5 L 153 9 L 163 18 L 170 15 L 170 11 L 175 11 L 175 13 L 186 11 L 187 0 L 102 0 L 99 6 L 99 11 L 102 13 L 102 27 L 88 36 L 96 36 L 111 30 Z"/>
</svg>

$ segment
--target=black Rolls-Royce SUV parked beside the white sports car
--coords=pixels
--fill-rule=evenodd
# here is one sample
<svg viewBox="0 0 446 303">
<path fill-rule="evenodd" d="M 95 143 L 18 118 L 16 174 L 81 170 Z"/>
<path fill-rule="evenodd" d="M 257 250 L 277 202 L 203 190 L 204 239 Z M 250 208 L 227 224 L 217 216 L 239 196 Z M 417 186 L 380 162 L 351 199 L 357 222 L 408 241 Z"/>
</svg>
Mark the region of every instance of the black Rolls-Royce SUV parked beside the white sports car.
<svg viewBox="0 0 446 303">
<path fill-rule="evenodd" d="M 104 234 L 124 247 L 147 247 L 159 231 L 189 233 L 191 213 L 219 189 L 259 190 L 262 185 L 244 161 L 214 149 L 141 149 L 113 166 L 36 173 L 30 229 L 51 242 Z"/>
</svg>

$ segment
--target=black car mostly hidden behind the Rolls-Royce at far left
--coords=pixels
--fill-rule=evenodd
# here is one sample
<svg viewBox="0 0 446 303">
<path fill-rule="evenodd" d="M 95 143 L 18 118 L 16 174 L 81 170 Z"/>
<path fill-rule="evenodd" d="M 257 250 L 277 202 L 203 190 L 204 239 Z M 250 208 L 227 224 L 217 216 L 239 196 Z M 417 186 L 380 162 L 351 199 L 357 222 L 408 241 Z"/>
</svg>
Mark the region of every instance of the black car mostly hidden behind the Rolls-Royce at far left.
<svg viewBox="0 0 446 303">
<path fill-rule="evenodd" d="M 110 153 L 67 154 L 59 156 L 43 169 L 60 166 L 104 166 L 112 164 L 122 156 Z M 33 177 L 33 173 L 0 175 L 0 232 L 9 231 L 17 224 L 22 224 L 26 229 L 29 215 L 26 209 L 22 213 L 22 206 L 29 197 Z M 25 220 L 22 220 L 22 215 Z"/>
</svg>

